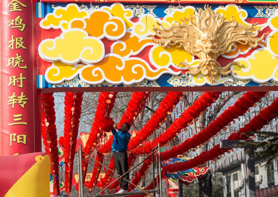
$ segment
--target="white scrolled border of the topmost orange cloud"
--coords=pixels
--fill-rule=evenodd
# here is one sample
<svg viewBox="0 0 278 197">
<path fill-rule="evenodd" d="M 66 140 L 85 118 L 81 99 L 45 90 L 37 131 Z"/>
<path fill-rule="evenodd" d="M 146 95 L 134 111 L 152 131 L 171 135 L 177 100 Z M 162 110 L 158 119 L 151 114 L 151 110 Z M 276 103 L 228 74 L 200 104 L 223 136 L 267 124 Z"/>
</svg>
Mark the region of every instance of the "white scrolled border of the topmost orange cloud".
<svg viewBox="0 0 278 197">
<path fill-rule="evenodd" d="M 104 26 L 103 26 L 103 34 L 102 34 L 101 36 L 98 36 L 97 38 L 103 39 L 104 37 L 106 37 L 108 40 L 116 41 L 116 40 L 119 40 L 120 38 L 124 37 L 125 32 L 126 32 L 126 26 L 125 26 L 124 20 L 121 19 L 120 17 L 112 16 L 111 13 L 110 13 L 109 11 L 107 11 L 107 10 L 101 10 L 101 9 L 95 9 L 95 10 L 91 11 L 87 16 L 85 16 L 85 17 L 83 17 L 83 18 L 81 18 L 81 19 L 80 19 L 80 18 L 72 19 L 72 20 L 69 22 L 69 28 L 71 28 L 71 24 L 72 24 L 74 21 L 76 21 L 76 20 L 79 20 L 79 21 L 82 21 L 82 22 L 83 22 L 84 26 L 82 27 L 82 29 L 83 29 L 83 28 L 86 28 L 85 19 L 89 19 L 89 20 L 90 20 L 91 15 L 92 15 L 93 13 L 95 13 L 95 12 L 105 12 L 106 14 L 109 15 L 109 21 L 106 22 L 106 23 L 104 24 Z M 114 28 L 113 30 L 116 31 L 116 30 L 118 29 L 118 25 L 117 25 L 115 22 L 111 22 L 111 21 L 110 21 L 110 20 L 112 20 L 112 19 L 118 19 L 118 20 L 120 20 L 121 23 L 122 23 L 122 25 L 124 26 L 124 30 L 123 30 L 123 32 L 122 32 L 119 36 L 110 36 L 110 35 L 108 35 L 107 32 L 106 32 L 106 27 L 107 27 L 107 25 L 109 25 L 109 24 L 113 24 L 113 25 L 115 26 L 115 28 Z"/>
</svg>

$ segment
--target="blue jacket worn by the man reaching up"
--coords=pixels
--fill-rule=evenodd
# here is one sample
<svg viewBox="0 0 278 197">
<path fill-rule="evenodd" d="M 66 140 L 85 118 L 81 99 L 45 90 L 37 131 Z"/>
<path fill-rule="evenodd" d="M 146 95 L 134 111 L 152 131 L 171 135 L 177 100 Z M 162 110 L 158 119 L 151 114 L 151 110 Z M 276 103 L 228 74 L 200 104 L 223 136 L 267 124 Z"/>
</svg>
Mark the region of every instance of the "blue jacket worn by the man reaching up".
<svg viewBox="0 0 278 197">
<path fill-rule="evenodd" d="M 114 135 L 113 143 L 112 143 L 112 151 L 126 151 L 128 142 L 131 138 L 131 134 L 128 132 L 122 132 L 119 130 L 118 132 L 113 129 L 111 130 Z"/>
</svg>

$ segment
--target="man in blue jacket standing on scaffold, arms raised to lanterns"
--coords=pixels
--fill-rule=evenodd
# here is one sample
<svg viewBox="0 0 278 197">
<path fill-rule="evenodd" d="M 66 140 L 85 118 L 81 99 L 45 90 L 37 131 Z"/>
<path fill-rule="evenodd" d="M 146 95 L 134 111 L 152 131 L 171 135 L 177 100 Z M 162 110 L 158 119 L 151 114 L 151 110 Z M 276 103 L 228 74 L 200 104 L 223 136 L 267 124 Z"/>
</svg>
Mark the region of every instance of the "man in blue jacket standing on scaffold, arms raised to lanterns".
<svg viewBox="0 0 278 197">
<path fill-rule="evenodd" d="M 120 176 L 122 176 L 124 173 L 128 171 L 128 156 L 127 156 L 127 148 L 128 148 L 128 142 L 131 138 L 131 134 L 128 133 L 128 130 L 130 129 L 130 125 L 125 122 L 120 129 L 116 129 L 116 124 L 113 125 L 114 130 L 111 130 L 114 139 L 112 143 L 112 152 L 113 152 L 113 158 L 116 170 Z M 129 173 L 126 173 L 123 178 L 129 180 Z M 123 178 L 120 178 L 120 191 L 117 192 L 117 194 L 125 193 L 128 189 L 128 182 L 124 180 Z"/>
</svg>

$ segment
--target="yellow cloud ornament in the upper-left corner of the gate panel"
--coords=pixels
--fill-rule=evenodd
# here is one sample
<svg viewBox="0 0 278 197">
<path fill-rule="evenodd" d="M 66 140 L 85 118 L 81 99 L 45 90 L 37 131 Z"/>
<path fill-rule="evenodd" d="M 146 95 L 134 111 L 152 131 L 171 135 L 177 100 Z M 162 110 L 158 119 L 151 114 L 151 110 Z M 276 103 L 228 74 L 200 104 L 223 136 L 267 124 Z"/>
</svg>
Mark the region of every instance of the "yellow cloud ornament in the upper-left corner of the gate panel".
<svg viewBox="0 0 278 197">
<path fill-rule="evenodd" d="M 68 29 L 68 24 L 72 19 L 83 18 L 88 13 L 80 10 L 77 4 L 70 3 L 65 7 L 56 7 L 53 13 L 48 13 L 44 19 L 40 21 L 40 27 L 43 29 Z"/>
</svg>

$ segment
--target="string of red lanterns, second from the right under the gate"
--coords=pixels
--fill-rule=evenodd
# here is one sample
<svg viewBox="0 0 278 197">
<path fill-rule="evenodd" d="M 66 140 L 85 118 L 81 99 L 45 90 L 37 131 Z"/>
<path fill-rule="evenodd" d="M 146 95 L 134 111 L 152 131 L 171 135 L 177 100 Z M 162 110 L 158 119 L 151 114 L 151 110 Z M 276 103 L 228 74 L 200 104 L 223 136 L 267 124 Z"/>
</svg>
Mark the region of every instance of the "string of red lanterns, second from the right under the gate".
<svg viewBox="0 0 278 197">
<path fill-rule="evenodd" d="M 258 102 L 264 97 L 266 92 L 246 92 L 240 97 L 233 106 L 226 109 L 219 117 L 217 117 L 211 124 L 205 127 L 201 132 L 194 135 L 192 138 L 187 138 L 183 143 L 177 147 L 173 147 L 171 150 L 162 152 L 161 160 L 167 160 L 174 158 L 177 155 L 186 154 L 189 149 L 198 149 L 198 145 L 207 143 L 207 140 L 218 132 L 221 133 L 221 129 L 229 125 L 235 118 L 242 116 L 246 113 L 247 109 Z M 199 147 L 201 148 L 201 147 Z M 186 156 L 186 155 L 185 155 Z"/>
</svg>

